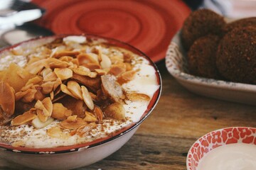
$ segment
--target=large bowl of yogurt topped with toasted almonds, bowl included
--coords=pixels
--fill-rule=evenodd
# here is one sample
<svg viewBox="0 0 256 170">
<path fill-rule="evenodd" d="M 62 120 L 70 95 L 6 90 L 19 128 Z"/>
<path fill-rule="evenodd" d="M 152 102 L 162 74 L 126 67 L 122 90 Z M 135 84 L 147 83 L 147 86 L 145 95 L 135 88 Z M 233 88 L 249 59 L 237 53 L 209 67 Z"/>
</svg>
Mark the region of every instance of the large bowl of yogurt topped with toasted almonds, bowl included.
<svg viewBox="0 0 256 170">
<path fill-rule="evenodd" d="M 32 169 L 104 159 L 132 137 L 161 94 L 149 57 L 97 35 L 21 42 L 0 51 L 0 70 L 0 156 Z"/>
</svg>

